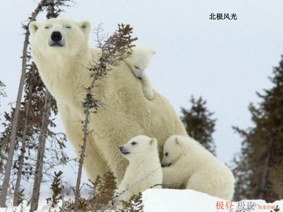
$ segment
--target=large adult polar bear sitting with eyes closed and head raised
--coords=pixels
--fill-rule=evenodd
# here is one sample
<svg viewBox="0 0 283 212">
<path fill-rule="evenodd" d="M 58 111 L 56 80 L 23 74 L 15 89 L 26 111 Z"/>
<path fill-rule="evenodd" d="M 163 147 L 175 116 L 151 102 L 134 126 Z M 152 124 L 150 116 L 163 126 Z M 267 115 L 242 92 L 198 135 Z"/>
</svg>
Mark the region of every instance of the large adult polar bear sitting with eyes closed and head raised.
<svg viewBox="0 0 283 212">
<path fill-rule="evenodd" d="M 82 101 L 84 88 L 90 85 L 86 67 L 99 60 L 98 49 L 90 49 L 91 31 L 87 21 L 51 18 L 43 23 L 31 22 L 31 54 L 40 76 L 55 97 L 67 138 L 76 152 L 82 144 L 81 120 L 85 119 Z M 94 180 L 109 168 L 120 183 L 127 166 L 118 147 L 136 135 L 156 138 L 162 154 L 165 140 L 174 134 L 186 135 L 185 128 L 171 104 L 154 91 L 145 98 L 141 81 L 123 61 L 94 87 L 94 97 L 101 103 L 97 115 L 91 113 L 84 168 Z M 108 166 L 107 166 L 108 165 Z"/>
</svg>

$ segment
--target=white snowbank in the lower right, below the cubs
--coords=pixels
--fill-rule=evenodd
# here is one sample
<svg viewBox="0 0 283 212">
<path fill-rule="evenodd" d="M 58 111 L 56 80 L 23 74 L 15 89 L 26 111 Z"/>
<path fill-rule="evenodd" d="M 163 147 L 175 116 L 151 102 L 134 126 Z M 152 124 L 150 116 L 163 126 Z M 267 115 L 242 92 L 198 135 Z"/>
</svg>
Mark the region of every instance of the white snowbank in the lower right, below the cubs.
<svg viewBox="0 0 283 212">
<path fill-rule="evenodd" d="M 223 202 L 224 209 L 217 210 L 216 203 Z M 144 212 L 216 212 L 229 211 L 226 209 L 227 200 L 210 196 L 194 190 L 148 189 L 143 192 Z M 275 206 L 283 210 L 283 200 L 266 203 L 264 200 L 242 200 L 247 207 L 248 202 L 261 206 Z M 232 202 L 233 210 L 237 211 L 238 202 Z M 241 205 L 241 204 L 240 204 Z M 245 209 L 246 209 L 245 207 Z M 254 207 L 258 208 L 258 207 Z M 280 210 L 280 211 L 281 211 Z M 246 210 L 245 210 L 246 211 Z M 270 210 L 252 210 L 254 212 L 269 212 Z"/>
</svg>

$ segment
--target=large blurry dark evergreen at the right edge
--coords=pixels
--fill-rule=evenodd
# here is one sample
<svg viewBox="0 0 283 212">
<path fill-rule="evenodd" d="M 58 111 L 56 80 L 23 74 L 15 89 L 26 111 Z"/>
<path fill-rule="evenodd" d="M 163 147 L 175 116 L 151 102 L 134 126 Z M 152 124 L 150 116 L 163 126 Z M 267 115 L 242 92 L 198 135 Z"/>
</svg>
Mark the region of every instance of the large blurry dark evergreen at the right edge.
<svg viewBox="0 0 283 212">
<path fill-rule="evenodd" d="M 273 69 L 273 83 L 263 94 L 261 102 L 249 105 L 254 127 L 246 130 L 234 127 L 244 139 L 239 159 L 235 159 L 236 198 L 279 199 L 270 189 L 270 171 L 283 159 L 283 57 Z M 238 200 L 238 199 L 237 199 Z"/>
</svg>

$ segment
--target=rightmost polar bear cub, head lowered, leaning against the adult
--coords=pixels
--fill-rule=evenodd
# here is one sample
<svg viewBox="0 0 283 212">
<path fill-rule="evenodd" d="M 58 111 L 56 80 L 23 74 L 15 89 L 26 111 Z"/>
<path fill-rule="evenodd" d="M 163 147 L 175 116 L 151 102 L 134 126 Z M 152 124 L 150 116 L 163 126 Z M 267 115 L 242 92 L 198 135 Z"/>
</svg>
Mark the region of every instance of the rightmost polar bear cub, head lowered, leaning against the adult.
<svg viewBox="0 0 283 212">
<path fill-rule="evenodd" d="M 231 200 L 234 176 L 227 166 L 189 136 L 172 135 L 164 144 L 163 183 L 185 186 Z"/>
</svg>

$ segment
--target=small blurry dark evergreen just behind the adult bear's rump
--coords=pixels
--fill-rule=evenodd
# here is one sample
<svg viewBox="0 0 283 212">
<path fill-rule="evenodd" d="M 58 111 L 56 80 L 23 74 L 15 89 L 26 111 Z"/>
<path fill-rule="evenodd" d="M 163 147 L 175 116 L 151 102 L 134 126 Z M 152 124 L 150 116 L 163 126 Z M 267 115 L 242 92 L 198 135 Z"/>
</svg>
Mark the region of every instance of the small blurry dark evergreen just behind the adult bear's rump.
<svg viewBox="0 0 283 212">
<path fill-rule="evenodd" d="M 191 96 L 192 104 L 189 110 L 181 108 L 181 121 L 184 123 L 189 136 L 197 140 L 201 145 L 208 149 L 213 155 L 216 155 L 216 145 L 213 142 L 212 133 L 215 131 L 216 119 L 213 119 L 213 112 L 206 108 L 206 101 L 199 97 L 195 100 Z"/>
</svg>

